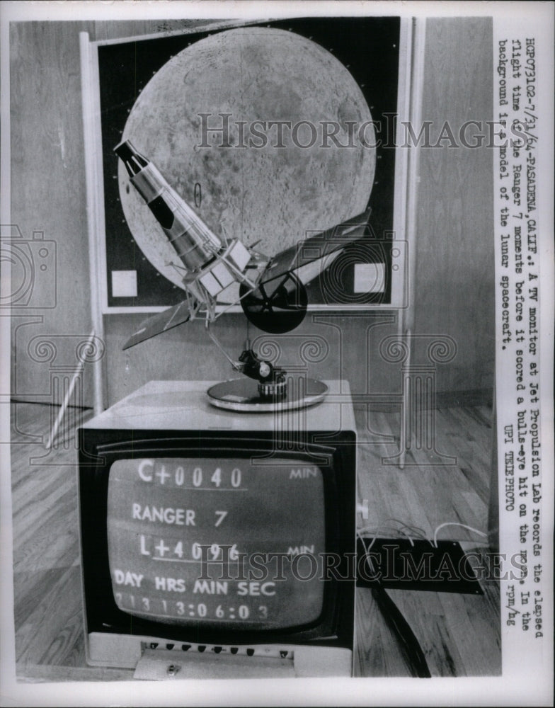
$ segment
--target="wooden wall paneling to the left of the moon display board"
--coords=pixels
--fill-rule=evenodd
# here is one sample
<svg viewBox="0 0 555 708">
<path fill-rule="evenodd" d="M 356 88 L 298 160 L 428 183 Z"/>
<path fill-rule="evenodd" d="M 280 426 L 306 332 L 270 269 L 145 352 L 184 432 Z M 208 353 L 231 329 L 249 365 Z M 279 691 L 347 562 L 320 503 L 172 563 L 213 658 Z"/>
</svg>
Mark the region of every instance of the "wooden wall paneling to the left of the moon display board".
<svg viewBox="0 0 555 708">
<path fill-rule="evenodd" d="M 42 394 L 59 402 L 63 393 L 58 397 L 50 391 L 51 369 L 77 365 L 76 340 L 91 329 L 79 69 L 79 30 L 90 27 L 73 22 L 11 24 L 11 221 L 23 239 L 32 239 L 33 231 L 44 232 L 45 241 L 54 241 L 56 249 L 53 282 L 52 269 L 40 273 L 35 248 L 33 307 L 13 312 L 12 336 L 20 356 L 12 371 L 12 391 L 35 400 Z M 22 318 L 32 314 L 42 322 L 18 329 Z M 54 336 L 56 361 L 37 362 L 26 355 L 37 335 Z M 84 382 L 86 401 L 88 371 Z"/>
</svg>

